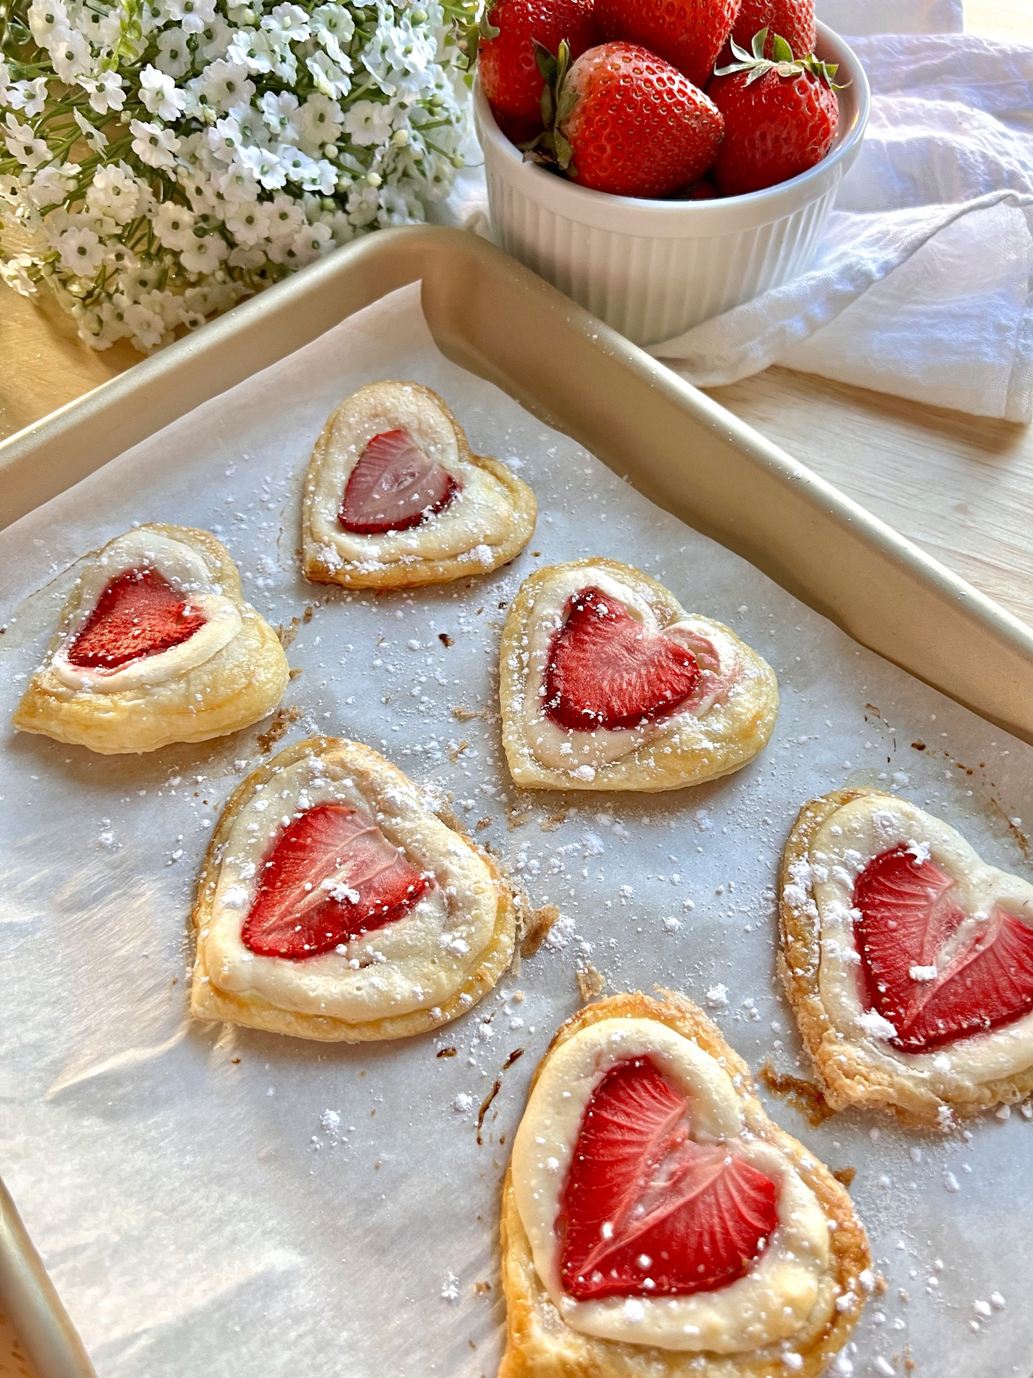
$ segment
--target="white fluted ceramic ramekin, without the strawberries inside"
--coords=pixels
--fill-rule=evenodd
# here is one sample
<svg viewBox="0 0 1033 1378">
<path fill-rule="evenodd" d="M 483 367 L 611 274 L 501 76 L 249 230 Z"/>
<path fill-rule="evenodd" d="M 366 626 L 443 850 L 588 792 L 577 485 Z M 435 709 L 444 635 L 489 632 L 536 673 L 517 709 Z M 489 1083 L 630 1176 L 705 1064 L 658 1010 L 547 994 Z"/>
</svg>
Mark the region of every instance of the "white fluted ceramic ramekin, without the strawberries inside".
<svg viewBox="0 0 1033 1378">
<path fill-rule="evenodd" d="M 780 186 L 713 201 L 607 196 L 525 163 L 477 85 L 492 238 L 636 344 L 672 339 L 788 282 L 811 262 L 868 123 L 857 56 L 822 23 L 817 52 L 850 83 L 828 156 Z"/>
</svg>

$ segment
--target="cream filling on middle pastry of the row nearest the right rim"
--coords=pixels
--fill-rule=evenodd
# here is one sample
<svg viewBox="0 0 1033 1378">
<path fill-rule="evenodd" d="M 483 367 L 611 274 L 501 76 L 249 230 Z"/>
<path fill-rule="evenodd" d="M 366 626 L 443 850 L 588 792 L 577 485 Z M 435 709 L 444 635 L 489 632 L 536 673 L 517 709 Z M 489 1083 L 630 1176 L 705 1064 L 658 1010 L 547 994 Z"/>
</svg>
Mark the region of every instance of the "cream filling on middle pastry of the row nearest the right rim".
<svg viewBox="0 0 1033 1378">
<path fill-rule="evenodd" d="M 543 711 L 545 672 L 552 655 L 552 642 L 563 626 L 569 601 L 583 588 L 599 588 L 620 601 L 628 613 L 647 631 L 680 641 L 697 652 L 700 638 L 709 642 L 719 659 L 719 668 L 704 670 L 701 693 L 686 707 L 643 728 L 621 728 L 594 732 L 572 732 L 558 726 Z M 596 770 L 620 761 L 639 747 L 675 734 L 687 718 L 701 718 L 708 708 L 724 697 L 740 668 L 740 657 L 733 639 L 705 617 L 686 617 L 661 627 L 645 598 L 613 575 L 592 565 L 561 569 L 537 591 L 526 621 L 526 675 L 523 678 L 519 718 L 523 740 L 530 755 L 551 770 L 565 770 L 576 779 L 592 780 Z"/>
</svg>

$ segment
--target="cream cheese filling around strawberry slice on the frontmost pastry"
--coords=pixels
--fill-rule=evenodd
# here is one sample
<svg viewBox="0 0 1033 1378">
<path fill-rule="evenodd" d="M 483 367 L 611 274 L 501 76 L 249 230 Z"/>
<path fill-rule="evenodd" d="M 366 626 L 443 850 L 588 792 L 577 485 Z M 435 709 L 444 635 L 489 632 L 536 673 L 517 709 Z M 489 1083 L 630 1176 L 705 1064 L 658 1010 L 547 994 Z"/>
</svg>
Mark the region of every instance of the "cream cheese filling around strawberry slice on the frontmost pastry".
<svg viewBox="0 0 1033 1378">
<path fill-rule="evenodd" d="M 726 1144 L 775 1182 L 778 1226 L 751 1272 L 716 1291 L 577 1301 L 561 1282 L 555 1229 L 574 1145 L 605 1073 L 643 1054 L 689 1100 L 693 1138 Z M 514 1140 L 512 1185 L 541 1284 L 566 1324 L 583 1334 L 661 1349 L 742 1353 L 791 1338 L 822 1299 L 828 1225 L 814 1193 L 784 1153 L 748 1134 L 735 1087 L 719 1062 L 656 1020 L 601 1020 L 551 1054 Z"/>
</svg>

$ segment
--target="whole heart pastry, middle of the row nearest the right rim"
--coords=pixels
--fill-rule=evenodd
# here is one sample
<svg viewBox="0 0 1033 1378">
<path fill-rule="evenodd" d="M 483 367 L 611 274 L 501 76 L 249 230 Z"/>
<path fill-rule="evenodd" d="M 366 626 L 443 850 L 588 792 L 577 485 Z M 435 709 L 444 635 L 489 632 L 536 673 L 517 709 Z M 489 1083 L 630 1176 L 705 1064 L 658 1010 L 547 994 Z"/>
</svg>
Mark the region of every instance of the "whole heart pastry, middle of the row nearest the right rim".
<svg viewBox="0 0 1033 1378">
<path fill-rule="evenodd" d="M 503 631 L 503 743 L 516 784 L 678 790 L 730 774 L 767 743 L 771 667 L 613 559 L 539 569 Z"/>
</svg>

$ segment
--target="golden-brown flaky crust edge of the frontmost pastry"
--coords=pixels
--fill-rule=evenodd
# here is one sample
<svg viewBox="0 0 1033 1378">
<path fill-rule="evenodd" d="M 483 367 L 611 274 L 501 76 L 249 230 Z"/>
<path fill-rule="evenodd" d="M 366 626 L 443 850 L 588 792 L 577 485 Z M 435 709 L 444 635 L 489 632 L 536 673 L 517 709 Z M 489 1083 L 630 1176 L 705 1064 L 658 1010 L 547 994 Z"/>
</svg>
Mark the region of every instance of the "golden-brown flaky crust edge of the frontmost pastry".
<svg viewBox="0 0 1033 1378">
<path fill-rule="evenodd" d="M 773 1145 L 811 1191 L 829 1222 L 829 1257 L 843 1309 L 832 1308 L 797 1333 L 792 1352 L 800 1356 L 793 1372 L 817 1378 L 850 1338 L 864 1306 L 861 1273 L 870 1264 L 868 1237 L 847 1192 L 802 1144 L 764 1113 L 753 1091 L 749 1068 L 724 1042 L 707 1016 L 674 991 L 651 999 L 639 991 L 598 1000 L 578 1010 L 552 1039 L 532 1082 L 532 1090 L 552 1053 L 581 1029 L 601 1020 L 651 1018 L 720 1058 L 737 1096 L 745 1126 Z M 507 1344 L 499 1378 L 785 1378 L 784 1346 L 753 1353 L 716 1355 L 623 1344 L 585 1335 L 567 1326 L 534 1269 L 532 1248 L 516 1209 L 511 1169 L 501 1202 L 501 1271 L 507 1304 Z"/>
</svg>

